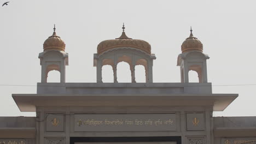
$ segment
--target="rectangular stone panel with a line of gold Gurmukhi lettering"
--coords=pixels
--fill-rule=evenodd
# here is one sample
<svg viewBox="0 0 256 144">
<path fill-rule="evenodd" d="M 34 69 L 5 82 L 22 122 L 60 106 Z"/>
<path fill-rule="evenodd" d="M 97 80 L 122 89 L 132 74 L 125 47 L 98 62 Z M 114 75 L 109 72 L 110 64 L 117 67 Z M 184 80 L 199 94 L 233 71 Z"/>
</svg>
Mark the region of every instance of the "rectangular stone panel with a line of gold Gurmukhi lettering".
<svg viewBox="0 0 256 144">
<path fill-rule="evenodd" d="M 74 131 L 176 131 L 176 114 L 75 114 Z"/>
</svg>

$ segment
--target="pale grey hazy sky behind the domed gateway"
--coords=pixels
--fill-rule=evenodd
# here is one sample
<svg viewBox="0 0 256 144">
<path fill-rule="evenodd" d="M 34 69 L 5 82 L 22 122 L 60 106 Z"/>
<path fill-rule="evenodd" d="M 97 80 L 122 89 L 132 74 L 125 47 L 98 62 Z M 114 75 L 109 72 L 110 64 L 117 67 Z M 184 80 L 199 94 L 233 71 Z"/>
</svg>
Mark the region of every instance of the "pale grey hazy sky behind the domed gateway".
<svg viewBox="0 0 256 144">
<path fill-rule="evenodd" d="M 177 56 L 192 26 L 210 56 L 207 71 L 213 93 L 239 94 L 213 116 L 256 116 L 256 1 L 9 1 L 0 8 L 0 116 L 34 116 L 20 112 L 11 94 L 36 93 L 38 53 L 54 23 L 69 53 L 66 82 L 96 82 L 92 64 L 97 44 L 118 38 L 123 22 L 128 37 L 151 44 L 154 82 L 180 82 Z M 125 66 L 121 64 L 119 75 L 126 74 L 127 69 L 121 69 Z M 108 75 L 111 72 L 103 77 Z M 143 75 L 136 72 L 137 81 Z"/>
</svg>

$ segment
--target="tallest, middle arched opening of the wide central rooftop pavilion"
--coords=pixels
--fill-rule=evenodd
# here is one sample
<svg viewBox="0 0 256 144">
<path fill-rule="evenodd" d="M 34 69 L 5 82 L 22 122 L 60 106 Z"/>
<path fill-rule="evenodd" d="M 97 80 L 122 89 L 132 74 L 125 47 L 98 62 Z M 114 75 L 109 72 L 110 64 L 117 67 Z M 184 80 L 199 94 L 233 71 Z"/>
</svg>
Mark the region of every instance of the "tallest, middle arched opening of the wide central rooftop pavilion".
<svg viewBox="0 0 256 144">
<path fill-rule="evenodd" d="M 126 62 L 120 62 L 117 65 L 118 82 L 131 82 L 130 65 Z"/>
</svg>

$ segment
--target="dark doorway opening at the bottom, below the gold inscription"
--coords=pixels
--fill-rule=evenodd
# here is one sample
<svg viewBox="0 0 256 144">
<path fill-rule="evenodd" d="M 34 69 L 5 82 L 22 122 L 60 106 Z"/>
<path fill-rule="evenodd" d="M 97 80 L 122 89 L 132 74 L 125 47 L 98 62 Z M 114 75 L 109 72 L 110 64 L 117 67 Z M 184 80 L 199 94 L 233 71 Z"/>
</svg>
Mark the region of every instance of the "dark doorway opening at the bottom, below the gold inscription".
<svg viewBox="0 0 256 144">
<path fill-rule="evenodd" d="M 70 137 L 70 144 L 75 142 L 176 142 L 181 144 L 181 136 L 150 137 Z"/>
</svg>

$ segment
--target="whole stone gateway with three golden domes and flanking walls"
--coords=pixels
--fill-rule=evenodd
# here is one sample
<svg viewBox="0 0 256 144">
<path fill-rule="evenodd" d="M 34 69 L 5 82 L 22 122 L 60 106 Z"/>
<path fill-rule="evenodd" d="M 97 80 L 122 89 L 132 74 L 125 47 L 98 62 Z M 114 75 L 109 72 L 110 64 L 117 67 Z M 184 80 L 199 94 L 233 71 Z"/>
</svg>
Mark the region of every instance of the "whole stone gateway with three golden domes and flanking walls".
<svg viewBox="0 0 256 144">
<path fill-rule="evenodd" d="M 190 35 L 181 45 L 177 66 L 181 82 L 154 83 L 151 46 L 123 33 L 104 40 L 94 54 L 96 83 L 66 83 L 68 53 L 53 35 L 39 53 L 41 82 L 36 94 L 13 94 L 22 112 L 36 117 L 0 117 L 0 143 L 5 144 L 242 144 L 256 143 L 256 117 L 213 117 L 238 94 L 213 94 L 207 81 L 208 55 Z M 119 83 L 117 64 L 130 65 L 131 82 Z M 113 82 L 102 82 L 102 67 L 113 68 Z M 146 82 L 136 83 L 135 66 L 143 65 Z M 48 83 L 51 70 L 60 71 L 59 83 Z M 189 71 L 199 82 L 189 82 Z"/>
</svg>

